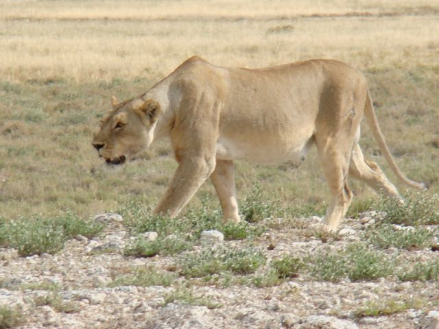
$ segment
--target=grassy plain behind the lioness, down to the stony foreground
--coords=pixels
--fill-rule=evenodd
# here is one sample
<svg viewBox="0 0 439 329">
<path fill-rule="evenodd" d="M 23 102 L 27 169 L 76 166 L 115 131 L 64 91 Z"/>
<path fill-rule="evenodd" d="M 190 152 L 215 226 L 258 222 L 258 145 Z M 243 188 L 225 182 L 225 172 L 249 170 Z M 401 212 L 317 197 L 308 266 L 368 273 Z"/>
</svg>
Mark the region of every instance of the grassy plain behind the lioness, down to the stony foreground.
<svg viewBox="0 0 439 329">
<path fill-rule="evenodd" d="M 195 54 L 224 66 L 352 64 L 368 77 L 401 169 L 438 192 L 438 21 L 434 0 L 1 1 L 0 217 L 156 202 L 176 168 L 169 145 L 158 142 L 108 175 L 91 136 L 111 95 L 139 95 Z M 367 129 L 360 143 L 396 182 Z M 258 181 L 285 204 L 323 205 L 327 186 L 313 153 L 298 169 L 237 162 L 239 196 Z M 351 186 L 357 199 L 373 194 Z M 206 193 L 210 182 L 192 204 Z"/>
</svg>

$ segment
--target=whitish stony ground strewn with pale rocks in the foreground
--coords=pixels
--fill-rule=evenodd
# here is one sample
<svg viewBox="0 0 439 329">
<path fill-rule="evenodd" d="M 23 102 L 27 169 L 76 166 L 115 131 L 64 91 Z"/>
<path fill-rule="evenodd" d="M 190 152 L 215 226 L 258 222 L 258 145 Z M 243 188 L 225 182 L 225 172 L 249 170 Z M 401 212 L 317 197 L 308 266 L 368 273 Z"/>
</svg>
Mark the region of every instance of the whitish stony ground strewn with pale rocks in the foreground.
<svg viewBox="0 0 439 329">
<path fill-rule="evenodd" d="M 103 234 L 91 240 L 76 236 L 58 254 L 22 258 L 14 249 L 0 249 L 0 305 L 21 310 L 23 321 L 17 328 L 439 328 L 437 281 L 401 282 L 389 276 L 332 283 L 299 275 L 274 287 L 257 288 L 251 284 L 216 287 L 180 276 L 169 287 L 117 286 L 111 284 L 115 277 L 133 267 L 154 265 L 176 271 L 178 255 L 123 256 L 123 245 L 131 239 L 123 219 L 103 216 L 99 220 L 108 222 Z M 324 243 L 312 234 L 298 234 L 298 229 L 272 228 L 256 244 L 269 259 L 285 252 L 318 254 L 358 240 L 367 222 L 346 220 L 337 241 Z M 219 243 L 239 249 L 246 242 Z M 422 259 L 438 255 L 427 248 L 409 253 Z M 182 287 L 195 296 L 192 302 L 175 297 Z M 401 298 L 416 300 L 420 307 L 377 317 L 355 313 L 367 300 Z"/>
</svg>

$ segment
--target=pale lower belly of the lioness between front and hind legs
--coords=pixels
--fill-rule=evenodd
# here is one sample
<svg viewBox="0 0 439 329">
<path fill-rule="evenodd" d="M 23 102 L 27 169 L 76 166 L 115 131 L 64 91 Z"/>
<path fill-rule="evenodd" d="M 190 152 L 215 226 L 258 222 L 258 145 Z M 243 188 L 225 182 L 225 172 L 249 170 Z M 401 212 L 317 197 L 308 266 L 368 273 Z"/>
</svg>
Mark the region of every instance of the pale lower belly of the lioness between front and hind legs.
<svg viewBox="0 0 439 329">
<path fill-rule="evenodd" d="M 271 140 L 271 142 L 270 142 Z M 220 136 L 217 141 L 217 160 L 250 160 L 255 162 L 283 162 L 301 160 L 311 145 L 311 138 L 303 141 L 265 140 L 237 141 Z"/>
</svg>

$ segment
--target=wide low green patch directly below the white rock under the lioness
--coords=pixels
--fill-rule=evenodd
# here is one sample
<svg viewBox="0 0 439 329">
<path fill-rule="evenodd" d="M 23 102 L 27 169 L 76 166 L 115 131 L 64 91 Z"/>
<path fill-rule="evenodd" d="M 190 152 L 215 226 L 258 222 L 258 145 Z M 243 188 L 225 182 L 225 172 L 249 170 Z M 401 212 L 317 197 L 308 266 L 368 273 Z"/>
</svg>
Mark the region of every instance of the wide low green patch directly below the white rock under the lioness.
<svg viewBox="0 0 439 329">
<path fill-rule="evenodd" d="M 254 247 L 239 250 L 218 247 L 183 256 L 179 260 L 179 267 L 187 278 L 202 278 L 222 272 L 241 275 L 254 273 L 264 263 L 265 256 Z"/>
</svg>

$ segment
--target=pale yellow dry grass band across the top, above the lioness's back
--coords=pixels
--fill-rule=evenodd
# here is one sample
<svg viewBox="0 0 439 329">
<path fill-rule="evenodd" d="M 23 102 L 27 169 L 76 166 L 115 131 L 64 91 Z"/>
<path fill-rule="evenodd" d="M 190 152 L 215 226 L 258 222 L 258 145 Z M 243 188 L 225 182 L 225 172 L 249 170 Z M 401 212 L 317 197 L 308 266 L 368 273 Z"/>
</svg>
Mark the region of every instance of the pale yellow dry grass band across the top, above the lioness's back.
<svg viewBox="0 0 439 329">
<path fill-rule="evenodd" d="M 398 3 L 6 1 L 0 77 L 158 79 L 193 54 L 250 67 L 316 57 L 359 69 L 437 64 L 439 5 Z"/>
</svg>

